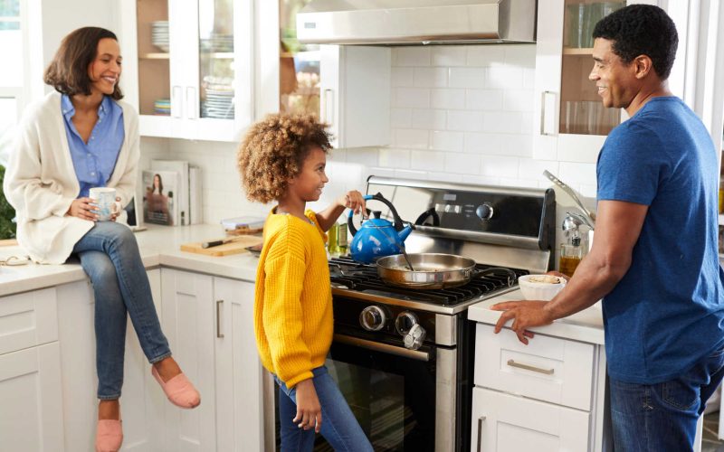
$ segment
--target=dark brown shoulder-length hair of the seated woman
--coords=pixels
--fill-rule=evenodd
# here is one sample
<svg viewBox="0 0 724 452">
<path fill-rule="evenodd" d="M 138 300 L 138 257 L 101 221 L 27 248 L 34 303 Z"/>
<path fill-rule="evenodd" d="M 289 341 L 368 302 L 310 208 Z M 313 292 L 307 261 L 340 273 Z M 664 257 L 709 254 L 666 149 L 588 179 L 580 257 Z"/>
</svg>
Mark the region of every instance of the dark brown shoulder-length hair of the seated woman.
<svg viewBox="0 0 724 452">
<path fill-rule="evenodd" d="M 98 42 L 105 38 L 118 41 L 115 33 L 100 27 L 79 28 L 65 36 L 50 65 L 45 69 L 43 81 L 62 94 L 88 96 L 88 66 L 96 59 Z M 110 97 L 115 100 L 123 99 L 118 83 Z"/>
</svg>

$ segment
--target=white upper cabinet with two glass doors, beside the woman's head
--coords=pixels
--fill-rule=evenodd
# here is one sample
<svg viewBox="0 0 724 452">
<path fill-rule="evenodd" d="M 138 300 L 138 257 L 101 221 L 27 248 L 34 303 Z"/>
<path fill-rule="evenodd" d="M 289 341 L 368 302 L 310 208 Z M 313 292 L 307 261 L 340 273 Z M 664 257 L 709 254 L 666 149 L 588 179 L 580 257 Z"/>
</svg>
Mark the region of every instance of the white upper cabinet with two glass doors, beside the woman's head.
<svg viewBox="0 0 724 452">
<path fill-rule="evenodd" d="M 252 122 L 252 0 L 134 6 L 123 30 L 138 52 L 127 78 L 138 87 L 141 135 L 238 141 Z"/>
</svg>

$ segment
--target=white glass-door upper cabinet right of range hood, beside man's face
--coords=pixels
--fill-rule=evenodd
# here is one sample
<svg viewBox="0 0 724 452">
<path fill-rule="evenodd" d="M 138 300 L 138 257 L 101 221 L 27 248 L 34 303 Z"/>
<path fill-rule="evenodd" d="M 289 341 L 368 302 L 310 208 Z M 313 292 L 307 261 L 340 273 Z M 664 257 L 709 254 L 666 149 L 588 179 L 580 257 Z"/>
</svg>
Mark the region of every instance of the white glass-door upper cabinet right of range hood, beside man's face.
<svg viewBox="0 0 724 452">
<path fill-rule="evenodd" d="M 629 2 L 632 3 L 632 2 Z M 621 110 L 604 108 L 588 76 L 595 24 L 624 1 L 539 0 L 534 156 L 593 163 Z"/>
</svg>

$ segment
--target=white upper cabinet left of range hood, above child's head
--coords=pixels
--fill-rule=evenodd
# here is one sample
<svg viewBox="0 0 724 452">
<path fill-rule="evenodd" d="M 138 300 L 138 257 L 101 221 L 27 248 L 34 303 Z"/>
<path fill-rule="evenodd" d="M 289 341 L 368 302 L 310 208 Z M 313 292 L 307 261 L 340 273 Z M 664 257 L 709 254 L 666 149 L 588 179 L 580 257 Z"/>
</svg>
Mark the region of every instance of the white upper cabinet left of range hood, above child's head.
<svg viewBox="0 0 724 452">
<path fill-rule="evenodd" d="M 329 124 L 332 146 L 390 144 L 391 51 L 300 44 L 296 13 L 310 0 L 256 0 L 257 116 L 310 113 Z"/>
</svg>

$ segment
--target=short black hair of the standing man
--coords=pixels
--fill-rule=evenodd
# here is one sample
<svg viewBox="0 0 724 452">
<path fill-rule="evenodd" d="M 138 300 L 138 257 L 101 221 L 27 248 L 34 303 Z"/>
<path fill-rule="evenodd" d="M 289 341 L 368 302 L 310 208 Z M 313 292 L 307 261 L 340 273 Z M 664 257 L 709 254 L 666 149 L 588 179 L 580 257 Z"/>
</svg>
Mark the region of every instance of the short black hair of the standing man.
<svg viewBox="0 0 724 452">
<path fill-rule="evenodd" d="M 626 64 L 639 55 L 648 56 L 659 77 L 669 78 L 679 35 L 672 18 L 662 8 L 653 5 L 621 8 L 595 24 L 593 36 L 613 41 L 614 53 Z"/>
</svg>

